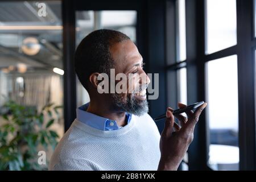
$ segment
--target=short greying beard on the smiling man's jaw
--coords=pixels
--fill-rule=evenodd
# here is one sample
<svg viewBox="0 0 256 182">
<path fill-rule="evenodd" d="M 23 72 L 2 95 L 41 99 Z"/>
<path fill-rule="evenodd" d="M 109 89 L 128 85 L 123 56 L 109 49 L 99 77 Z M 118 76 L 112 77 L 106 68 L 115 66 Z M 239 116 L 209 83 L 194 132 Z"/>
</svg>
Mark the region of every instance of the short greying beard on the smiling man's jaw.
<svg viewBox="0 0 256 182">
<path fill-rule="evenodd" d="M 130 96 L 130 97 L 129 97 Z M 123 100 L 122 94 L 111 94 L 113 109 L 118 111 L 125 111 L 130 114 L 141 116 L 144 113 L 148 112 L 148 102 L 147 100 L 138 101 L 133 96 L 133 94 L 129 95 L 127 100 Z"/>
</svg>

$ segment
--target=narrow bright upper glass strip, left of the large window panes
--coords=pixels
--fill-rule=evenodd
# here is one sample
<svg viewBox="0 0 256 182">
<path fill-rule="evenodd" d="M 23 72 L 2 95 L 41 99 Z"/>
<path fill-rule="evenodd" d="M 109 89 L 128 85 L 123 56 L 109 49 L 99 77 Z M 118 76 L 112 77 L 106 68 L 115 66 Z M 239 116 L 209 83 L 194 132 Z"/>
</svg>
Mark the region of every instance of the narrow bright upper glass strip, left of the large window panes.
<svg viewBox="0 0 256 182">
<path fill-rule="evenodd" d="M 185 22 L 185 0 L 176 1 L 176 47 L 177 61 L 184 61 L 186 57 L 186 22 Z"/>
</svg>

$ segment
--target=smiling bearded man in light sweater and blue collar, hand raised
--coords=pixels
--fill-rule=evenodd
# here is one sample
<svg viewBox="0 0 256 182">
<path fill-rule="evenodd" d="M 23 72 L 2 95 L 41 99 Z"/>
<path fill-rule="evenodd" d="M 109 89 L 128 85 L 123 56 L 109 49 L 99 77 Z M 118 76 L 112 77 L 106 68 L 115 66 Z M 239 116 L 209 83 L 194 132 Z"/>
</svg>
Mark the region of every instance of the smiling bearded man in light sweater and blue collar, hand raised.
<svg viewBox="0 0 256 182">
<path fill-rule="evenodd" d="M 110 75 L 111 68 L 115 75 L 138 73 L 145 79 L 133 80 L 126 88 L 132 92 L 99 93 L 98 77 Z M 207 104 L 195 113 L 187 112 L 188 119 L 175 115 L 181 127 L 174 123 L 173 110 L 168 107 L 160 136 L 147 114 L 146 88 L 150 79 L 143 71 L 142 56 L 130 38 L 118 31 L 97 30 L 86 36 L 77 47 L 75 69 L 90 102 L 77 109 L 77 118 L 57 145 L 49 169 L 177 169 Z"/>
</svg>

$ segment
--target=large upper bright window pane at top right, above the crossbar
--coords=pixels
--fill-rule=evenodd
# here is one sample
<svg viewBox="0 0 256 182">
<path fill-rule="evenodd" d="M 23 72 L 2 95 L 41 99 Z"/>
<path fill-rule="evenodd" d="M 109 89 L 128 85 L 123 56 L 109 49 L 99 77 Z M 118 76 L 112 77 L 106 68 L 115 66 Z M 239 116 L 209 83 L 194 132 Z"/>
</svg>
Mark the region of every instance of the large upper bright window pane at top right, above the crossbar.
<svg viewBox="0 0 256 182">
<path fill-rule="evenodd" d="M 236 0 L 206 0 L 206 53 L 237 44 Z"/>
</svg>

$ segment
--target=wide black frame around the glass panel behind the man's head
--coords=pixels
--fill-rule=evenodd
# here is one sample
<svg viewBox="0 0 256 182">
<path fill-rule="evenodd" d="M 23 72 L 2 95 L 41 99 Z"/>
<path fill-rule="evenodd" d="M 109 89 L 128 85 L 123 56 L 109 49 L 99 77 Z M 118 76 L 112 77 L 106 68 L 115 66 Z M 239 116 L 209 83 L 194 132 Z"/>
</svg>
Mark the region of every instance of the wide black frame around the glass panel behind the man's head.
<svg viewBox="0 0 256 182">
<path fill-rule="evenodd" d="M 159 98 L 150 100 L 152 117 L 166 110 L 165 88 L 165 1 L 68 1 L 62 2 L 63 57 L 64 57 L 64 122 L 65 131 L 76 118 L 76 73 L 73 69 L 75 54 L 75 12 L 82 10 L 136 10 L 137 47 L 146 62 L 147 73 L 159 74 Z M 163 122 L 156 123 L 159 131 Z"/>
</svg>

